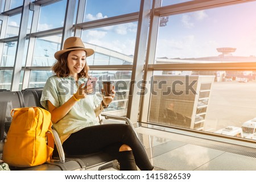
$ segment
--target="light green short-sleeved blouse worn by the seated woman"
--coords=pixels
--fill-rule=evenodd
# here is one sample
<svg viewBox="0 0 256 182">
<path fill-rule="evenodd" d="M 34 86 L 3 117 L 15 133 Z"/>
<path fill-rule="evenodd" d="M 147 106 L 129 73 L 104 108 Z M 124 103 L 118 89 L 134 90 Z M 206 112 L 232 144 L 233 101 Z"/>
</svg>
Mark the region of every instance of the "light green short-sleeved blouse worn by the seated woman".
<svg viewBox="0 0 256 182">
<path fill-rule="evenodd" d="M 87 78 L 80 78 L 79 85 L 86 82 Z M 48 110 L 47 101 L 50 101 L 55 107 L 63 105 L 77 92 L 79 85 L 72 76 L 57 77 L 51 76 L 44 86 L 41 104 Z M 94 108 L 100 105 L 100 99 L 96 94 L 88 95 L 86 98 L 76 102 L 73 108 L 59 122 L 53 123 L 59 136 L 69 135 L 84 129 L 88 126 L 98 125 L 98 119 Z"/>
</svg>

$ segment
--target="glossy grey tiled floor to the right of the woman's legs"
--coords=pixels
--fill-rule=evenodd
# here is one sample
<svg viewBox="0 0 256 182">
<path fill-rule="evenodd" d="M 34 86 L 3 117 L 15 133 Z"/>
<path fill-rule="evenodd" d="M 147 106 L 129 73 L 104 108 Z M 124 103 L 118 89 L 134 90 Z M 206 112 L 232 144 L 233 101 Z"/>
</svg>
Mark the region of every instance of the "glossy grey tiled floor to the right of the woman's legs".
<svg viewBox="0 0 256 182">
<path fill-rule="evenodd" d="M 183 135 L 137 127 L 139 139 L 156 170 L 256 170 L 256 158 L 191 144 Z M 250 144 L 256 147 L 256 144 Z M 91 168 L 89 170 L 97 170 Z M 108 169 L 114 170 L 114 169 Z"/>
</svg>

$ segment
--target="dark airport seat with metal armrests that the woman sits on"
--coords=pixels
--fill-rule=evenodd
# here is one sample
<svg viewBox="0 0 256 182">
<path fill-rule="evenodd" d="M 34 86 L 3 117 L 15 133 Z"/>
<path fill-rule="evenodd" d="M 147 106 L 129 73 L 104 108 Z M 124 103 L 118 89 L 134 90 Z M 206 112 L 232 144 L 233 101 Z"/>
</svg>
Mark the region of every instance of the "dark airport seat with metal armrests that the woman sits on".
<svg viewBox="0 0 256 182">
<path fill-rule="evenodd" d="M 42 107 L 42 105 L 40 104 L 42 90 L 43 88 L 35 88 L 35 89 L 30 88 L 30 89 L 22 90 L 26 107 L 30 107 L 30 106 Z M 126 117 L 117 117 L 114 115 L 101 114 L 99 117 L 99 122 L 101 124 L 120 123 L 120 122 L 126 123 L 127 125 L 130 125 L 135 131 L 133 124 L 130 122 L 130 119 Z M 55 148 L 57 149 L 60 163 L 65 164 L 66 160 L 76 160 L 78 163 L 80 163 L 81 167 L 84 169 L 92 168 L 99 165 L 101 166 L 98 168 L 98 170 L 104 170 L 107 168 L 114 168 L 117 170 L 119 169 L 117 160 L 115 160 L 113 156 L 106 154 L 106 152 L 97 152 L 93 154 L 75 155 L 75 156 L 65 155 L 64 150 L 62 148 L 62 144 L 59 139 L 59 135 L 57 134 L 54 128 L 53 128 L 53 135 L 55 138 L 55 144 L 56 144 Z"/>
</svg>

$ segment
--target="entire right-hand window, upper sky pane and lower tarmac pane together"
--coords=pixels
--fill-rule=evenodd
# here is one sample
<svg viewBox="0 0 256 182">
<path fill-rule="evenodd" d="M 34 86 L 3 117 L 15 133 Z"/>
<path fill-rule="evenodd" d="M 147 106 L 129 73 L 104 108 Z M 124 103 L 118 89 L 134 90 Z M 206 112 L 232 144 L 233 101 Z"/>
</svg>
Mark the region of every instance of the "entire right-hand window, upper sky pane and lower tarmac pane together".
<svg viewBox="0 0 256 182">
<path fill-rule="evenodd" d="M 191 68 L 195 63 L 221 67 L 256 62 L 255 5 L 162 16 L 166 22 L 159 23 L 155 64 Z M 254 129 L 248 129 L 256 127 L 255 71 L 180 67 L 180 71 L 154 71 L 148 122 L 256 139 Z"/>
</svg>

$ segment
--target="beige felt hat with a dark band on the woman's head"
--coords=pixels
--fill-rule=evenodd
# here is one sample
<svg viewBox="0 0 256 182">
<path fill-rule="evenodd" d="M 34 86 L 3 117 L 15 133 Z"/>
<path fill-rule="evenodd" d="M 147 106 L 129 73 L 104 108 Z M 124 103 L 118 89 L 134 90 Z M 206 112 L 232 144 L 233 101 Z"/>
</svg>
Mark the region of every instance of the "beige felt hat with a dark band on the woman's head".
<svg viewBox="0 0 256 182">
<path fill-rule="evenodd" d="M 85 48 L 84 43 L 82 43 L 82 40 L 80 38 L 76 36 L 72 36 L 65 40 L 63 50 L 55 52 L 54 57 L 57 60 L 59 60 L 60 56 L 64 52 L 73 51 L 73 50 L 84 50 L 86 52 L 86 57 L 89 57 L 94 53 L 93 49 Z"/>
</svg>

